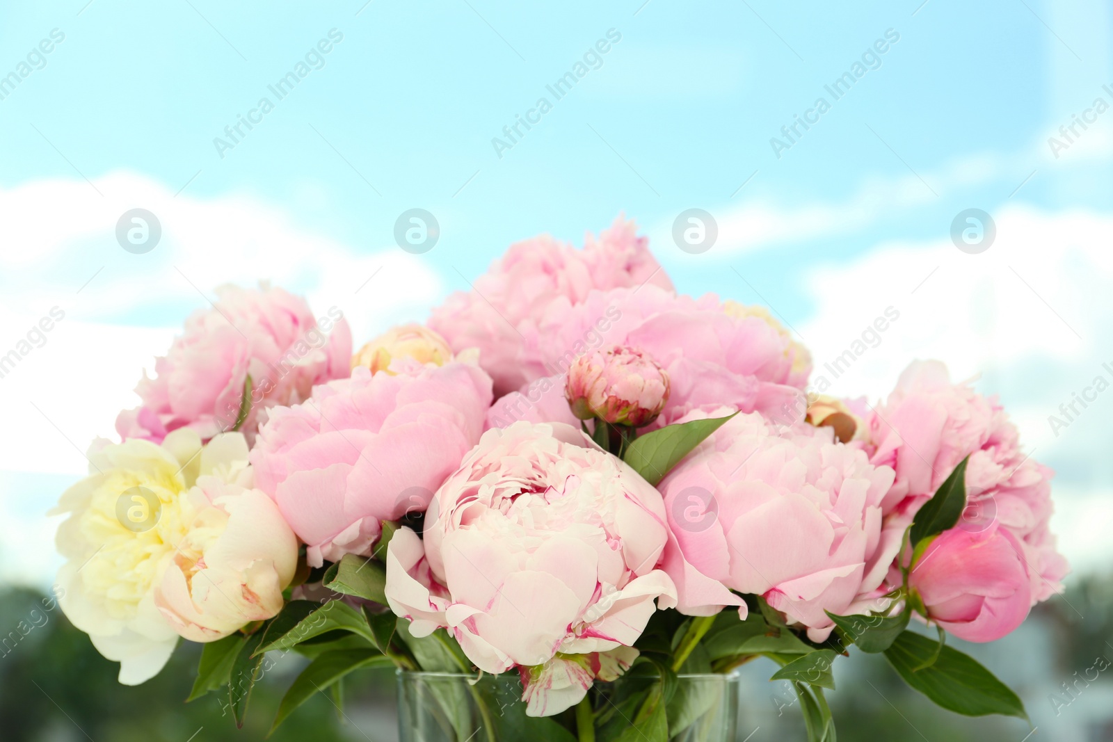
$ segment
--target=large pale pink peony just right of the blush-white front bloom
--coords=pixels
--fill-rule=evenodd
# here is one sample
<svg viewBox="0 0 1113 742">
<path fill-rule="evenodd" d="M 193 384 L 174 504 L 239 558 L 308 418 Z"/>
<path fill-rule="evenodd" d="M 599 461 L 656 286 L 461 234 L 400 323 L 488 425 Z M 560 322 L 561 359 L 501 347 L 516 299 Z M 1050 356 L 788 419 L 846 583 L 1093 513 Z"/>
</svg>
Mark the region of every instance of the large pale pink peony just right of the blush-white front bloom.
<svg viewBox="0 0 1113 742">
<path fill-rule="evenodd" d="M 663 568 L 679 610 L 738 605 L 726 586 L 764 596 L 824 641 L 833 629 L 825 611 L 883 607 L 903 536 L 881 530 L 892 484 L 893 469 L 835 442 L 830 428 L 778 436 L 759 415 L 738 415 L 659 485 L 672 532 Z"/>
</svg>

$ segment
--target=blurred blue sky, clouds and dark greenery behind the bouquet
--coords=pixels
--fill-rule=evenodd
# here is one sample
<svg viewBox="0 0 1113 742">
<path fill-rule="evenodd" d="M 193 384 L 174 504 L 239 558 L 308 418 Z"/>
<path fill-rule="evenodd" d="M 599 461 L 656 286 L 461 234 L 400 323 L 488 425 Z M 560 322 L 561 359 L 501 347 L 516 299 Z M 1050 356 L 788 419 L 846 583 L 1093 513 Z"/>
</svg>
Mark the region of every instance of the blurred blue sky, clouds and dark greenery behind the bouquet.
<svg viewBox="0 0 1113 742">
<path fill-rule="evenodd" d="M 45 513 L 215 287 L 335 306 L 358 345 L 515 240 L 580 245 L 624 214 L 681 291 L 769 306 L 833 393 L 876 400 L 943 359 L 1057 472 L 1066 594 L 962 647 L 1033 726 L 937 710 L 856 654 L 840 739 L 1113 740 L 1113 676 L 1078 680 L 1113 657 L 1111 8 L 853 6 L 0 3 L 0 635 L 33 626 L 0 650 L 0 736 L 257 740 L 296 673 L 283 660 L 237 731 L 215 695 L 181 702 L 196 647 L 121 687 L 39 603 L 60 563 Z M 411 209 L 435 220 L 421 250 L 395 237 Z M 743 736 L 802 739 L 771 666 L 745 672 Z M 393 682 L 367 672 L 343 715 L 314 699 L 273 739 L 396 739 Z"/>
</svg>

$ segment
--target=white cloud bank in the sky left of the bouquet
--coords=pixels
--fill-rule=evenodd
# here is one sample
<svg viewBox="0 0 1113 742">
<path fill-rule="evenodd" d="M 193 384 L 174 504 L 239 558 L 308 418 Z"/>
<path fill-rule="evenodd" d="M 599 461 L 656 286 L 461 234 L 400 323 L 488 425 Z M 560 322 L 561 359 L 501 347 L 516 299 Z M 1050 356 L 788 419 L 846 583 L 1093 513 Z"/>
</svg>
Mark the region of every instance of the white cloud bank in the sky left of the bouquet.
<svg viewBox="0 0 1113 742">
<path fill-rule="evenodd" d="M 70 179 L 0 189 L 0 355 L 52 306 L 66 313 L 46 344 L 0 378 L 8 421 L 0 471 L 83 473 L 89 442 L 112 435 L 119 409 L 138 404 L 131 389 L 144 368 L 152 369 L 189 310 L 208 308 L 199 291 L 211 297 L 220 284 L 269 279 L 306 295 L 318 316 L 339 307 L 356 344 L 388 325 L 423 319 L 441 291 L 421 257 L 341 244 L 253 198 L 175 198 L 131 174 L 93 185 L 104 197 Z M 162 226 L 161 240 L 145 255 L 116 241 L 116 221 L 135 207 Z M 152 324 L 152 307 L 160 308 L 154 324 L 168 327 L 138 326 Z"/>
</svg>

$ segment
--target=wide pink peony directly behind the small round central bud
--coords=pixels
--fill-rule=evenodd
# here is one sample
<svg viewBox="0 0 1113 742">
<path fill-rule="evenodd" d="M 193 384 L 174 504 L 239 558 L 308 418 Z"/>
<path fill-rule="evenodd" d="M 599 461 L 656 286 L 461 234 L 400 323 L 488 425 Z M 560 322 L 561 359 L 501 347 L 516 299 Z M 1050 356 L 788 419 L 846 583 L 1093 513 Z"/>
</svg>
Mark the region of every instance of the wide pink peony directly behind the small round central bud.
<svg viewBox="0 0 1113 742">
<path fill-rule="evenodd" d="M 807 409 L 801 392 L 811 366 L 807 350 L 767 313 L 720 303 L 715 295 L 693 299 L 656 286 L 592 291 L 578 305 L 553 301 L 536 327 L 523 333 L 530 380 L 492 409 L 492 427 L 516 419 L 567 422 L 570 416 L 550 389 L 563 388 L 577 357 L 615 345 L 639 348 L 668 374 L 669 398 L 658 426 L 723 405 L 760 412 L 782 425 L 798 422 Z"/>
</svg>

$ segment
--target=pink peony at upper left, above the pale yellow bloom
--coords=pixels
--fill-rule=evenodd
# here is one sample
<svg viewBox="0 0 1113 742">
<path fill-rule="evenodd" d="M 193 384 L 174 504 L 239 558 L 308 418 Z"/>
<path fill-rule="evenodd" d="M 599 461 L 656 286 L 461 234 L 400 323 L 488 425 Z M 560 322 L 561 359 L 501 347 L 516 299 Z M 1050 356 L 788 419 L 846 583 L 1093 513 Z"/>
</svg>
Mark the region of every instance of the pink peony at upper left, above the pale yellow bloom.
<svg viewBox="0 0 1113 742">
<path fill-rule="evenodd" d="M 304 299 L 266 286 L 221 286 L 216 294 L 214 307 L 195 311 L 169 353 L 155 359 L 155 378 L 139 382 L 142 406 L 116 419 L 121 438 L 159 443 L 190 427 L 203 441 L 238 429 L 250 443 L 264 409 L 302 402 L 315 384 L 348 375 L 352 333 L 339 309 L 315 319 Z M 248 376 L 250 410 L 235 427 Z"/>
</svg>

